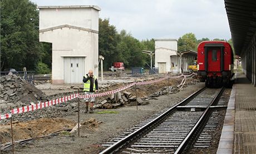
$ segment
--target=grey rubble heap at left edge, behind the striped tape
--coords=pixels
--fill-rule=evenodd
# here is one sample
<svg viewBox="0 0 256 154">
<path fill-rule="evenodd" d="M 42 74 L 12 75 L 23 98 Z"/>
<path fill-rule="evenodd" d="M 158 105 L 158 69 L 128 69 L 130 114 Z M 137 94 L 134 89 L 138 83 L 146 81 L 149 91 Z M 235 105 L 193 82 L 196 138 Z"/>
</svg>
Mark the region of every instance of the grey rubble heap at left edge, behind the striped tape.
<svg viewBox="0 0 256 154">
<path fill-rule="evenodd" d="M 0 92 L 0 114 L 9 111 L 9 107 L 27 106 L 31 102 L 48 100 L 45 93 L 16 74 L 0 77 Z"/>
</svg>

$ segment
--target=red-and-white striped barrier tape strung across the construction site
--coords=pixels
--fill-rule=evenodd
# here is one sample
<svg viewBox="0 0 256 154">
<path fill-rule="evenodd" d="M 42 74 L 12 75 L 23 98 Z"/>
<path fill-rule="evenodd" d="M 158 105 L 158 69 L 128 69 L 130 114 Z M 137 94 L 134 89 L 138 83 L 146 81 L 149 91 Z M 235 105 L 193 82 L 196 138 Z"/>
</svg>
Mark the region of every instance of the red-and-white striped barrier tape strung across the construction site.
<svg viewBox="0 0 256 154">
<path fill-rule="evenodd" d="M 23 107 L 19 107 L 19 108 L 14 108 L 12 109 L 10 112 L 11 113 L 6 113 L 4 115 L 0 115 L 0 120 L 3 120 L 3 119 L 6 119 L 6 118 L 9 118 L 12 116 L 12 114 L 18 114 L 18 113 L 24 113 L 24 112 L 29 112 L 29 111 L 35 111 L 35 110 L 39 110 L 39 109 L 42 109 L 42 108 L 45 108 L 45 107 L 49 107 L 49 106 L 53 106 L 53 105 L 57 105 L 59 103 L 62 103 L 62 102 L 66 102 L 66 101 L 70 101 L 70 100 L 73 100 L 74 98 L 77 98 L 78 96 L 80 98 L 89 98 L 89 97 L 100 97 L 100 96 L 106 96 L 106 95 L 110 95 L 112 93 L 116 93 L 116 92 L 119 92 L 119 91 L 122 91 L 122 90 L 125 90 L 126 88 L 129 88 L 131 86 L 134 86 L 135 84 L 136 85 L 147 85 L 147 84 L 151 84 L 151 83 L 155 83 L 155 82 L 159 82 L 159 81 L 163 81 L 167 78 L 179 78 L 179 77 L 183 77 L 184 76 L 184 79 L 186 77 L 189 77 L 189 76 L 192 76 L 193 74 L 195 73 L 192 73 L 188 76 L 185 76 L 185 75 L 181 75 L 181 76 L 175 76 L 175 77 L 169 77 L 169 76 L 166 76 L 164 78 L 160 78 L 158 80 L 152 80 L 152 81 L 145 81 L 145 82 L 132 82 L 130 83 L 129 85 L 126 85 L 124 87 L 121 87 L 121 88 L 118 88 L 116 90 L 112 90 L 112 91 L 107 91 L 107 92 L 102 92 L 102 93 L 95 93 L 95 94 L 91 94 L 91 95 L 79 95 L 78 93 L 76 94 L 73 94 L 73 95 L 70 95 L 70 96 L 65 96 L 65 97 L 62 97 L 62 98 L 57 98 L 55 100 L 51 100 L 51 101 L 47 101 L 47 102 L 40 102 L 40 103 L 37 103 L 35 105 L 29 105 L 29 106 L 23 106 Z M 184 81 L 183 79 L 183 81 Z M 183 81 L 181 82 L 182 85 L 184 85 Z M 181 85 L 180 84 L 180 85 Z M 179 86 L 180 86 L 179 85 Z"/>
</svg>

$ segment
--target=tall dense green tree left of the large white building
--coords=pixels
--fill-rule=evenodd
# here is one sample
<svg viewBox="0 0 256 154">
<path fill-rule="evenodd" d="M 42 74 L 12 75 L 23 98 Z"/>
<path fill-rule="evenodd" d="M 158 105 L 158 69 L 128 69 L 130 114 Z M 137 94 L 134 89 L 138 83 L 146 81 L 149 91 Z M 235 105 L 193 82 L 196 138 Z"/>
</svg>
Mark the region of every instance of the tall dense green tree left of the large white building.
<svg viewBox="0 0 256 154">
<path fill-rule="evenodd" d="M 28 0 L 1 0 L 0 70 L 36 68 L 40 58 L 38 18 L 36 4 Z"/>
</svg>

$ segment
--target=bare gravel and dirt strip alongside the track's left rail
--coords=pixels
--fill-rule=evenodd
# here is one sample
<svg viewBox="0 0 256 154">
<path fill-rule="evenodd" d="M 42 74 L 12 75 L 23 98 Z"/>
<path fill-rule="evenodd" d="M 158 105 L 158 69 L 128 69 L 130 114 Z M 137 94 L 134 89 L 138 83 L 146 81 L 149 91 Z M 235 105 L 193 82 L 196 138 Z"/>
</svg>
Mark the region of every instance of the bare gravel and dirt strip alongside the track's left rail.
<svg viewBox="0 0 256 154">
<path fill-rule="evenodd" d="M 176 94 L 157 97 L 158 100 L 150 100 L 149 105 L 139 106 L 138 111 L 136 106 L 126 106 L 115 110 L 107 110 L 117 111 L 117 113 L 81 113 L 80 119 L 82 122 L 93 118 L 102 123 L 91 125 L 90 127 L 82 125 L 80 137 L 76 137 L 77 134 L 74 133 L 73 135 L 62 134 L 60 136 L 42 138 L 28 145 L 15 147 L 14 151 L 15 153 L 99 153 L 105 148 L 101 147 L 101 144 L 109 140 L 109 138 L 134 126 L 155 112 L 175 105 L 202 87 L 204 87 L 204 83 L 198 83 L 188 86 Z M 76 122 L 77 115 L 62 118 Z"/>
</svg>

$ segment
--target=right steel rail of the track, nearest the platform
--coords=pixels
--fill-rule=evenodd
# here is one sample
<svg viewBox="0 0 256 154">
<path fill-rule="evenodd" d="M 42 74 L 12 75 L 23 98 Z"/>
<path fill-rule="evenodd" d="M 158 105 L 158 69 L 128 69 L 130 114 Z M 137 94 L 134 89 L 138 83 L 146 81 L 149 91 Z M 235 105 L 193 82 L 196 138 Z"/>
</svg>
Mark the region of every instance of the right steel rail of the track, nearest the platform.
<svg viewBox="0 0 256 154">
<path fill-rule="evenodd" d="M 221 90 L 219 91 L 218 95 L 216 95 L 213 100 L 210 102 L 209 106 L 205 109 L 204 113 L 201 115 L 200 119 L 198 120 L 198 122 L 195 124 L 195 126 L 191 129 L 191 131 L 188 133 L 188 136 L 186 136 L 183 140 L 183 142 L 181 142 L 181 144 L 179 145 L 179 147 L 177 148 L 177 150 L 174 152 L 175 154 L 178 153 L 183 153 L 186 146 L 188 145 L 188 143 L 190 142 L 191 138 L 193 138 L 193 135 L 195 135 L 196 131 L 198 131 L 198 128 L 200 127 L 200 125 L 204 122 L 205 118 L 210 116 L 210 106 L 215 105 L 216 103 L 218 103 L 220 96 L 222 95 L 223 91 L 225 90 L 225 87 L 222 87 Z"/>
</svg>

